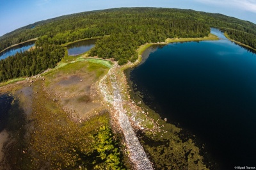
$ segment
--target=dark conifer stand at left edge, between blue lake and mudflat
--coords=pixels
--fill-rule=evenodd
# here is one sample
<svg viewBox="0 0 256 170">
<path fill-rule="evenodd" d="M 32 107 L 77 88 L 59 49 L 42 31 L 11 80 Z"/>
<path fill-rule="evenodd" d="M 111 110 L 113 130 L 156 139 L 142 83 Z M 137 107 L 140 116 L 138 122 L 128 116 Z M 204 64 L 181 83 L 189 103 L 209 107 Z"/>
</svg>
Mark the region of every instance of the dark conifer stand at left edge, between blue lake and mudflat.
<svg viewBox="0 0 256 170">
<path fill-rule="evenodd" d="M 60 45 L 44 44 L 33 50 L 17 52 L 14 56 L 0 60 L 0 82 L 17 77 L 29 77 L 54 68 L 65 55 Z"/>
</svg>

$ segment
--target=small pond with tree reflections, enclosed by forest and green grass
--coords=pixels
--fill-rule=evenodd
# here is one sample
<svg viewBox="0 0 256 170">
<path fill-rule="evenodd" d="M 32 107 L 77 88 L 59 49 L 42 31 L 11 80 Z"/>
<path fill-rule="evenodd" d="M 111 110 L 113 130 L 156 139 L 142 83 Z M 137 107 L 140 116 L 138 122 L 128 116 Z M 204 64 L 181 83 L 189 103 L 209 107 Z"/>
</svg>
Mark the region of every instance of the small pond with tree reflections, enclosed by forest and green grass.
<svg viewBox="0 0 256 170">
<path fill-rule="evenodd" d="M 92 47 L 94 47 L 95 42 L 97 42 L 97 40 L 98 39 L 91 39 L 71 43 L 67 46 L 68 56 L 77 56 L 79 54 L 87 52 L 88 50 L 92 49 Z"/>
</svg>

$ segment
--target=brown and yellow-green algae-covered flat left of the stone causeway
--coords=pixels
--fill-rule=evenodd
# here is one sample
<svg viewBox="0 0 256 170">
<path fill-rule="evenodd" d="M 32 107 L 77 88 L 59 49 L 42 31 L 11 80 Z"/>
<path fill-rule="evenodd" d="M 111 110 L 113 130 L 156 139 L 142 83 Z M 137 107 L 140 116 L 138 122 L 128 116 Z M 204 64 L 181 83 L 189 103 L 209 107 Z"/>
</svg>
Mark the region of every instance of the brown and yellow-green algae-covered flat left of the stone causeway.
<svg viewBox="0 0 256 170">
<path fill-rule="evenodd" d="M 1 108 L 8 116 L 0 169 L 125 167 L 96 87 L 109 61 L 87 60 L 66 60 L 55 70 L 1 87 L 1 95 L 12 99 Z"/>
</svg>

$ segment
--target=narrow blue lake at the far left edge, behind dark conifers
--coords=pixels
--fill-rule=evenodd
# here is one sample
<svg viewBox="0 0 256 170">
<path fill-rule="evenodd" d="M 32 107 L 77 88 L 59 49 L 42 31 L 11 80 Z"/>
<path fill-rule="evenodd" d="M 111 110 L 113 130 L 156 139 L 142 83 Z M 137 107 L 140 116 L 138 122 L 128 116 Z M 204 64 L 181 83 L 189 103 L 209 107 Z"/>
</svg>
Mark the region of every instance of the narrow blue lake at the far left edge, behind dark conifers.
<svg viewBox="0 0 256 170">
<path fill-rule="evenodd" d="M 35 42 L 26 42 L 19 45 L 15 45 L 10 49 L 4 50 L 0 53 L 0 60 L 15 55 L 17 52 L 28 50 L 35 45 Z"/>
</svg>

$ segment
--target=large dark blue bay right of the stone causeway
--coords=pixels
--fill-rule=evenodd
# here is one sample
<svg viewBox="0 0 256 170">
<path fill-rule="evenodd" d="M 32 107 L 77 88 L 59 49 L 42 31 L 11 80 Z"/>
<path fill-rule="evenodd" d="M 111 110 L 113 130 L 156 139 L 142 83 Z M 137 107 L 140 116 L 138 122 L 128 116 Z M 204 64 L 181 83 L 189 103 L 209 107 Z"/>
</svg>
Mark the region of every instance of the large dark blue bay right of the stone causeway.
<svg viewBox="0 0 256 170">
<path fill-rule="evenodd" d="M 131 70 L 135 91 L 205 144 L 221 169 L 256 166 L 256 54 L 221 40 L 172 43 Z M 157 50 L 156 50 L 157 48 Z"/>
</svg>

